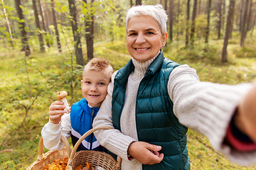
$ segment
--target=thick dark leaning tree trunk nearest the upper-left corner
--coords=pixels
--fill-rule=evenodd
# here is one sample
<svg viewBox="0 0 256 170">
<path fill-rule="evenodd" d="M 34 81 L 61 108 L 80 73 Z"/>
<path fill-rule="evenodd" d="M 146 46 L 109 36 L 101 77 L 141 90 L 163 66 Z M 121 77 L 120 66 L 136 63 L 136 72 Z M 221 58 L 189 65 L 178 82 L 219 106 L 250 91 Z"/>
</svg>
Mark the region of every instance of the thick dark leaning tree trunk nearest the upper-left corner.
<svg viewBox="0 0 256 170">
<path fill-rule="evenodd" d="M 18 13 L 19 18 L 19 28 L 21 30 L 21 42 L 23 44 L 22 51 L 25 51 L 25 55 L 28 56 L 31 54 L 30 47 L 28 45 L 28 34 L 26 32 L 26 23 L 25 23 L 25 16 L 23 15 L 22 9 L 21 9 L 21 0 L 15 0 L 15 8 Z"/>
</svg>

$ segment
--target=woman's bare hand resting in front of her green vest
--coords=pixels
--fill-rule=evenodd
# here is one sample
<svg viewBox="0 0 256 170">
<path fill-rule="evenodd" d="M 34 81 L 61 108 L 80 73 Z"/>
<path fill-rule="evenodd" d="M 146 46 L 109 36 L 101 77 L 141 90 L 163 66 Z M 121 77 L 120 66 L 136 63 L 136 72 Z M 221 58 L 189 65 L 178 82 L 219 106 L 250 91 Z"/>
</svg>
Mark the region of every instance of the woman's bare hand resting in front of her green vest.
<svg viewBox="0 0 256 170">
<path fill-rule="evenodd" d="M 146 142 L 132 142 L 127 153 L 142 164 L 158 164 L 164 159 L 164 154 L 159 154 L 160 146 Z"/>
</svg>

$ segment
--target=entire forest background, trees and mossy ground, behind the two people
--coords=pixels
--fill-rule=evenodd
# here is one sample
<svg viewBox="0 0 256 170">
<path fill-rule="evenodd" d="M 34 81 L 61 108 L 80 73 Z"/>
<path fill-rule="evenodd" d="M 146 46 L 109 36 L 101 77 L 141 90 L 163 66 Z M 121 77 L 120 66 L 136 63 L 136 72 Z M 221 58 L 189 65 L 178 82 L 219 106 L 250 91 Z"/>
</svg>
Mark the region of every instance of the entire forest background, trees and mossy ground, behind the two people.
<svg viewBox="0 0 256 170">
<path fill-rule="evenodd" d="M 37 158 L 55 92 L 68 91 L 70 105 L 80 100 L 81 68 L 88 60 L 106 58 L 114 70 L 130 60 L 130 6 L 162 4 L 169 14 L 165 57 L 195 68 L 201 81 L 238 84 L 256 77 L 256 0 L 0 3 L 0 169 L 26 169 Z M 188 147 L 191 169 L 249 169 L 228 162 L 193 130 Z"/>
</svg>

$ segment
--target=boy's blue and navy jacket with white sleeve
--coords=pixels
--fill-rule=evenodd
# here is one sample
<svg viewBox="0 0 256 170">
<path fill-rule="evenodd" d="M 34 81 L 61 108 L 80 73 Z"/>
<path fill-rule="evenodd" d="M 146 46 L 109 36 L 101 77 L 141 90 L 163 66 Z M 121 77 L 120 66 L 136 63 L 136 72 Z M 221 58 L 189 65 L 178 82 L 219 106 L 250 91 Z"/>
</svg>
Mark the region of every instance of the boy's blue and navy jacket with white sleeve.
<svg viewBox="0 0 256 170">
<path fill-rule="evenodd" d="M 51 123 L 49 120 L 49 122 L 43 126 L 41 131 L 43 145 L 45 145 L 46 149 L 50 150 L 62 149 L 64 144 L 60 141 L 60 136 L 63 134 L 67 139 L 71 137 L 74 146 L 85 132 L 92 129 L 92 121 L 99 109 L 100 108 L 90 107 L 85 98 L 74 103 L 71 107 L 71 112 L 64 114 L 58 125 Z M 81 142 L 77 151 L 87 149 L 105 151 L 105 147 L 102 147 L 99 142 L 97 142 L 93 134 L 89 135 Z"/>
</svg>

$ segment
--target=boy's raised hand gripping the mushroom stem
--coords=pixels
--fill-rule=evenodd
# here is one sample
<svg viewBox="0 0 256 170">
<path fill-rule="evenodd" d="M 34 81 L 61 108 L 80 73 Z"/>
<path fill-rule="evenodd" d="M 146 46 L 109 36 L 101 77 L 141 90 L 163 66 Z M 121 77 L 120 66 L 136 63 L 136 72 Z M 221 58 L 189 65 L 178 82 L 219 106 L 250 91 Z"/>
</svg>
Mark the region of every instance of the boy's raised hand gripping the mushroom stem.
<svg viewBox="0 0 256 170">
<path fill-rule="evenodd" d="M 65 113 L 64 108 L 65 106 L 63 105 L 63 101 L 54 101 L 49 108 L 49 118 L 50 122 L 53 124 L 58 124 L 60 123 L 61 116 L 63 113 Z"/>
</svg>

